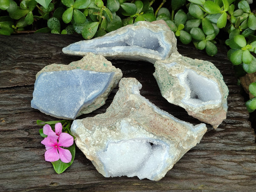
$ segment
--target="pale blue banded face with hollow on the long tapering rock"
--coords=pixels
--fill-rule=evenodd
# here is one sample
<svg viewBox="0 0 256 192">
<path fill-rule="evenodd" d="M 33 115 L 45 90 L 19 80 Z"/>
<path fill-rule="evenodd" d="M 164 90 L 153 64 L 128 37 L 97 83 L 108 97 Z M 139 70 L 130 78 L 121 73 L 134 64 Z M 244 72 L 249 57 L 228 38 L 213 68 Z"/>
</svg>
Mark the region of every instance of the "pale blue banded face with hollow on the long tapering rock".
<svg viewBox="0 0 256 192">
<path fill-rule="evenodd" d="M 109 55 L 157 55 L 165 59 L 172 45 L 166 43 L 163 31 L 152 32 L 149 29 L 128 29 L 122 34 L 105 35 L 87 41 L 79 41 L 63 48 L 67 54 L 81 55 L 93 52 L 103 56 Z"/>
</svg>

